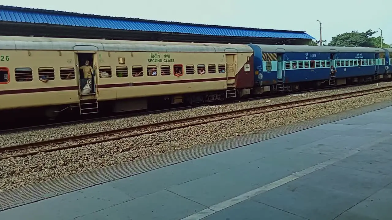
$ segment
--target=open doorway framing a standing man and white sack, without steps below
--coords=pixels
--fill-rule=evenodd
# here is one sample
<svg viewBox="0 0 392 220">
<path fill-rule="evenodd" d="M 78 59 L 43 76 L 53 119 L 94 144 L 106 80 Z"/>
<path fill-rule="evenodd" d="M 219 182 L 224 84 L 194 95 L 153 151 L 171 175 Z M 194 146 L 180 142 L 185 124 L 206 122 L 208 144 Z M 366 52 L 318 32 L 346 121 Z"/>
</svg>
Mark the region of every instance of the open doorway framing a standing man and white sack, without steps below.
<svg viewBox="0 0 392 220">
<path fill-rule="evenodd" d="M 96 94 L 94 53 L 76 53 L 75 58 L 79 70 L 80 95 Z"/>
</svg>

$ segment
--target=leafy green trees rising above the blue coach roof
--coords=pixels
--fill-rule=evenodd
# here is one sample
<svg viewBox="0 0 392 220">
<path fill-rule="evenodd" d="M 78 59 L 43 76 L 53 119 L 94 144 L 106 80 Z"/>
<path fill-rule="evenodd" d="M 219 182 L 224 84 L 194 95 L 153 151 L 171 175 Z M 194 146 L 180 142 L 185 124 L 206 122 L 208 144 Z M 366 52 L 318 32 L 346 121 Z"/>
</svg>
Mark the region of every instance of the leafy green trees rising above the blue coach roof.
<svg viewBox="0 0 392 220">
<path fill-rule="evenodd" d="M 339 34 L 332 38 L 328 46 L 336 47 L 380 47 L 381 36 L 372 37 L 377 31 L 368 30 L 365 32 L 351 31 Z M 383 47 L 389 47 L 383 42 Z"/>
</svg>

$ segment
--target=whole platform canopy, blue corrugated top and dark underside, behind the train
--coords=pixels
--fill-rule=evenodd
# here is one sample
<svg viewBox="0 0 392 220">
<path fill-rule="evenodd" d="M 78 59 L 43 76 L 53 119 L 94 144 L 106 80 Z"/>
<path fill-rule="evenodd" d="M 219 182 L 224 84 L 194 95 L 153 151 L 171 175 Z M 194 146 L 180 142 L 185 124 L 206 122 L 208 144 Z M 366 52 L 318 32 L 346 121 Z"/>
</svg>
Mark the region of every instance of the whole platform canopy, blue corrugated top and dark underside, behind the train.
<svg viewBox="0 0 392 220">
<path fill-rule="evenodd" d="M 302 45 L 304 31 L 118 18 L 0 5 L 1 35 L 204 43 Z"/>
</svg>

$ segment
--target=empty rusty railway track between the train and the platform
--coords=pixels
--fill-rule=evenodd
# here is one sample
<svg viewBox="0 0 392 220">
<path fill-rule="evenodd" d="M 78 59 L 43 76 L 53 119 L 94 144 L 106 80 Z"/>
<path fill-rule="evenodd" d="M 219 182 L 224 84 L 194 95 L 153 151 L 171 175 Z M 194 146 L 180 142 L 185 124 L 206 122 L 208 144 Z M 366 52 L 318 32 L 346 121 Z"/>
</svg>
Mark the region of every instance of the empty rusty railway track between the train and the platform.
<svg viewBox="0 0 392 220">
<path fill-rule="evenodd" d="M 322 96 L 311 99 L 302 99 L 286 103 L 278 103 L 266 106 L 258 106 L 253 108 L 246 108 L 241 110 L 234 110 L 225 113 L 209 114 L 198 117 L 188 117 L 184 119 L 145 124 L 141 126 L 133 126 L 128 128 L 109 130 L 104 132 L 88 133 L 83 135 L 76 135 L 72 137 L 64 137 L 59 139 L 32 142 L 27 144 L 20 144 L 15 146 L 6 146 L 0 148 L 0 160 L 10 157 L 25 157 L 35 155 L 41 152 L 51 152 L 57 150 L 64 150 L 68 148 L 78 148 L 90 144 L 99 144 L 107 141 L 115 141 L 123 138 L 137 137 L 156 132 L 165 132 L 179 128 L 187 128 L 197 126 L 200 124 L 212 123 L 216 121 L 223 121 L 227 119 L 234 119 L 247 115 L 261 114 L 266 112 L 273 112 L 277 110 L 285 110 L 299 106 L 314 105 L 319 103 L 326 103 L 341 99 L 364 96 L 385 92 L 392 90 L 392 86 L 373 88 L 369 90 L 361 90 L 356 92 L 348 92 L 343 94 L 335 94 L 330 96 Z"/>
</svg>

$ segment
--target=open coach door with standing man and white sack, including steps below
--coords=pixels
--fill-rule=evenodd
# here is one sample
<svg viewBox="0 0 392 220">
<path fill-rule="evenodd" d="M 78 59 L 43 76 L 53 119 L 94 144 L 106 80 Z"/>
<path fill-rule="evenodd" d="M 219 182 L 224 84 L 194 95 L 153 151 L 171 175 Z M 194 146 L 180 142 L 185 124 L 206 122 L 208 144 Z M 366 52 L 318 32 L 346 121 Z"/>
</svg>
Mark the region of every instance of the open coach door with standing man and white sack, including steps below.
<svg viewBox="0 0 392 220">
<path fill-rule="evenodd" d="M 96 52 L 75 52 L 75 74 L 78 76 L 79 82 L 79 110 L 81 115 L 98 113 L 98 87 L 96 85 L 98 69 L 96 63 Z"/>
</svg>

